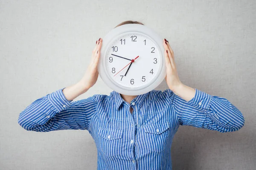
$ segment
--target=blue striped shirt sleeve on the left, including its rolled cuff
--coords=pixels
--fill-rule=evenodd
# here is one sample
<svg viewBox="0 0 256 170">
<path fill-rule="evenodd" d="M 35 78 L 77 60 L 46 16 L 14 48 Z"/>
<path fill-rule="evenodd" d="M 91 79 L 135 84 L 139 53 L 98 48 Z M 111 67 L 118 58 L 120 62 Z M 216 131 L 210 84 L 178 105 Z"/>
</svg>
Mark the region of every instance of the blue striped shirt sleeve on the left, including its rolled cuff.
<svg viewBox="0 0 256 170">
<path fill-rule="evenodd" d="M 22 111 L 18 123 L 26 130 L 49 132 L 53 130 L 88 130 L 90 119 L 96 113 L 93 96 L 72 102 L 61 88 L 35 100 Z"/>
</svg>

